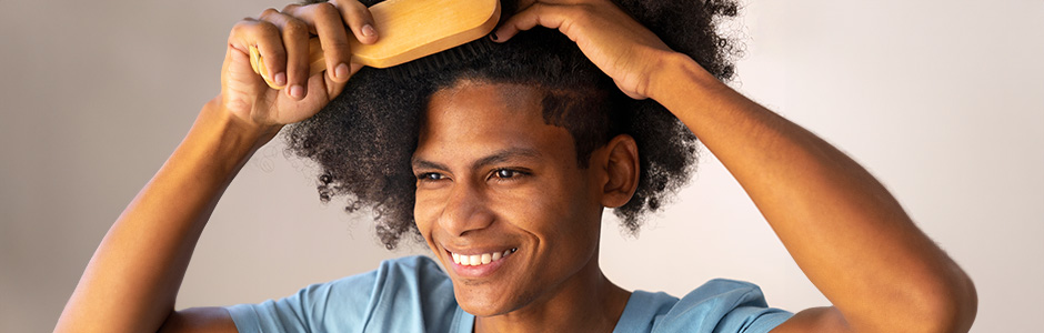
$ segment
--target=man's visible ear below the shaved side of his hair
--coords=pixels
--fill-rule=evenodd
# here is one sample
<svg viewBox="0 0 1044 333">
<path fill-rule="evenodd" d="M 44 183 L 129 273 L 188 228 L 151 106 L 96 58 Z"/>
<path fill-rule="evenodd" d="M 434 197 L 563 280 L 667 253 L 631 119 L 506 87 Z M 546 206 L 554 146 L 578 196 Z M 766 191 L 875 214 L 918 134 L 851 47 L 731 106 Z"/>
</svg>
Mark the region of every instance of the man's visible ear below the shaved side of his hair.
<svg viewBox="0 0 1044 333">
<path fill-rule="evenodd" d="M 638 143 L 628 134 L 620 134 L 609 141 L 604 148 L 606 154 L 599 165 L 604 172 L 602 205 L 618 208 L 631 201 L 638 190 L 641 167 L 638 159 Z"/>
</svg>

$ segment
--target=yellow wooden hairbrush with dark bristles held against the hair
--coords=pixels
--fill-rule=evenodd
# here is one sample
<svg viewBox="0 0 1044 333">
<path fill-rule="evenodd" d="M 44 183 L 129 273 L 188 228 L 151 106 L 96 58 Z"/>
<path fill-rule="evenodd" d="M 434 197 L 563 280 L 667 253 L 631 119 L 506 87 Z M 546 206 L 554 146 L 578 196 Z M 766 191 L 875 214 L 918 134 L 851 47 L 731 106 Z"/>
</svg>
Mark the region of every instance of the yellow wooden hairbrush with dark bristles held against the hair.
<svg viewBox="0 0 1044 333">
<path fill-rule="evenodd" d="M 388 0 L 370 7 L 370 13 L 381 38 L 373 44 L 350 38 L 351 61 L 395 67 L 390 71 L 393 78 L 408 78 L 485 53 L 490 42 L 482 37 L 500 20 L 500 0 Z M 465 47 L 442 52 L 460 46 Z M 309 40 L 309 75 L 327 70 L 319 38 Z M 271 81 L 257 46 L 250 46 L 250 67 L 269 87 L 283 88 Z"/>
</svg>

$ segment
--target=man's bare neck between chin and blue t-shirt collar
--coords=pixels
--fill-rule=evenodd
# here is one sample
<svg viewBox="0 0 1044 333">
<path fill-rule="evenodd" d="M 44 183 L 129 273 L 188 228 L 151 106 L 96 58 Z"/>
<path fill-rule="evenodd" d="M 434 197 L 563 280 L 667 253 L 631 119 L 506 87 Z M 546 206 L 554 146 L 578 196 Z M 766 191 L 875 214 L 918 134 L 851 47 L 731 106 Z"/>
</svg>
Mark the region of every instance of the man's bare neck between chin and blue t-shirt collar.
<svg viewBox="0 0 1044 333">
<path fill-rule="evenodd" d="M 594 258 L 576 275 L 526 306 L 475 317 L 474 332 L 612 332 L 631 293 L 609 281 L 598 265 L 598 255 Z"/>
</svg>

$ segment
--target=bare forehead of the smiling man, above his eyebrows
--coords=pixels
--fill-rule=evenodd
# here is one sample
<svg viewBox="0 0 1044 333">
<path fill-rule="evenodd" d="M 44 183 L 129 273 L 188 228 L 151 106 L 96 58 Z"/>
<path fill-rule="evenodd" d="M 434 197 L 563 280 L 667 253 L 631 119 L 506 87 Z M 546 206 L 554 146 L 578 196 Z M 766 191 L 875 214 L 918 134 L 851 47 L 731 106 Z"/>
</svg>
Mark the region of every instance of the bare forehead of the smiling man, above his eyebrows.
<svg viewBox="0 0 1044 333">
<path fill-rule="evenodd" d="M 505 149 L 572 152 L 569 132 L 544 122 L 543 95 L 533 85 L 478 81 L 440 90 L 429 101 L 414 157 L 464 161 Z"/>
</svg>

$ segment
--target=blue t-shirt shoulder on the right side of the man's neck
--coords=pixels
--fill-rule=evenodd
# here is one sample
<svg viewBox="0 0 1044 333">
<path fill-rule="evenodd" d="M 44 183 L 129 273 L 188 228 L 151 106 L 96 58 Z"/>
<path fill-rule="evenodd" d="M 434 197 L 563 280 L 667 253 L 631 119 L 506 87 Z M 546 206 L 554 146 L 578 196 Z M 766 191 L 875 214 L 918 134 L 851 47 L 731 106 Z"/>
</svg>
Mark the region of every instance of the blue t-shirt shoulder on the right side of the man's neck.
<svg viewBox="0 0 1044 333">
<path fill-rule="evenodd" d="M 734 280 L 711 280 L 681 299 L 643 291 L 631 297 L 624 316 L 643 323 L 639 332 L 769 332 L 792 316 L 769 307 L 757 285 Z"/>
</svg>

